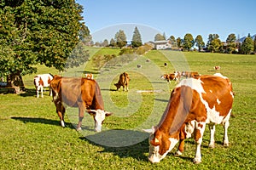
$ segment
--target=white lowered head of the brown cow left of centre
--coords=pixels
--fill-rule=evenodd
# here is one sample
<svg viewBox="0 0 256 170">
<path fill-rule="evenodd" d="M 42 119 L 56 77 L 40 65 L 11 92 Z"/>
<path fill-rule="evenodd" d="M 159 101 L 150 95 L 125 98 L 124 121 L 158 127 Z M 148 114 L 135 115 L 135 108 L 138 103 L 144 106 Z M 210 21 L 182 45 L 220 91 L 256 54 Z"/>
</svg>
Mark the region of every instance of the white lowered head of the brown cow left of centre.
<svg viewBox="0 0 256 170">
<path fill-rule="evenodd" d="M 112 115 L 112 113 L 108 111 L 103 111 L 103 110 L 90 110 L 88 113 L 94 117 L 94 122 L 95 122 L 95 130 L 96 132 L 101 132 L 102 131 L 102 123 L 105 120 L 106 116 Z"/>
</svg>

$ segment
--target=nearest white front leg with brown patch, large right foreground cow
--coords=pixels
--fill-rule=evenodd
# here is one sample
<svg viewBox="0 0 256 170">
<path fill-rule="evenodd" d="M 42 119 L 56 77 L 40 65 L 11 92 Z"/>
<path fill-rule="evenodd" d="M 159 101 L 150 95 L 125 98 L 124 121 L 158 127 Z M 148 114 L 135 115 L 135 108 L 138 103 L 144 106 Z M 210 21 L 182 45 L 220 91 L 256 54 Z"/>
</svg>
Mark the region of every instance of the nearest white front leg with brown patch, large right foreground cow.
<svg viewBox="0 0 256 170">
<path fill-rule="evenodd" d="M 205 128 L 206 128 L 206 123 L 202 123 L 202 122 L 195 123 L 195 135 L 194 135 L 195 144 L 196 144 L 195 158 L 194 158 L 195 163 L 201 163 L 201 142 L 202 142 Z"/>
</svg>

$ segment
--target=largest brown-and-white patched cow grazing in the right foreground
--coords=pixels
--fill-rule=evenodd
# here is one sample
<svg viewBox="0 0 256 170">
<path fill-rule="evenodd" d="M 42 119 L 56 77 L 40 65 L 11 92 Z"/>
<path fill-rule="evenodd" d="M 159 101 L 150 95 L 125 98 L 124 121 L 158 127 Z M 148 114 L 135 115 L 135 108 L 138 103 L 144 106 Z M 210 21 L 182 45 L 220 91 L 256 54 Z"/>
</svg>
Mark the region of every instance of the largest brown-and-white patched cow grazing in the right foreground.
<svg viewBox="0 0 256 170">
<path fill-rule="evenodd" d="M 224 126 L 224 146 L 229 145 L 228 127 L 234 94 L 227 77 L 221 74 L 183 79 L 172 94 L 160 123 L 149 137 L 151 162 L 165 158 L 179 141 L 176 155 L 181 156 L 184 139 L 195 139 L 195 163 L 201 162 L 201 142 L 206 124 L 210 128 L 209 147 L 214 147 L 215 125 Z"/>
</svg>

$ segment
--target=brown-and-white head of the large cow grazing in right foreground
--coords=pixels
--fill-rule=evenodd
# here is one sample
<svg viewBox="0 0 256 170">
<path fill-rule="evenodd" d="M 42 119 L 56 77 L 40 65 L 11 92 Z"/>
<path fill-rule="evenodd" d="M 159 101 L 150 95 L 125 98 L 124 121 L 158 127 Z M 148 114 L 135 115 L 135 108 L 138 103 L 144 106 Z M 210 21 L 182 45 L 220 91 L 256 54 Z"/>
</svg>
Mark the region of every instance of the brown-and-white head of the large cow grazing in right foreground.
<svg viewBox="0 0 256 170">
<path fill-rule="evenodd" d="M 153 127 L 153 132 L 150 134 L 148 142 L 148 160 L 152 163 L 157 163 L 165 158 L 168 152 L 170 152 L 174 148 L 175 144 L 177 144 L 178 142 L 178 139 L 174 138 L 174 136 L 172 137 L 170 135 L 166 135 L 166 133 L 162 133 L 158 129 Z"/>
</svg>

